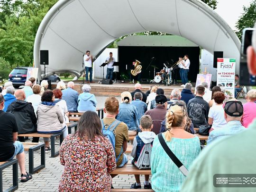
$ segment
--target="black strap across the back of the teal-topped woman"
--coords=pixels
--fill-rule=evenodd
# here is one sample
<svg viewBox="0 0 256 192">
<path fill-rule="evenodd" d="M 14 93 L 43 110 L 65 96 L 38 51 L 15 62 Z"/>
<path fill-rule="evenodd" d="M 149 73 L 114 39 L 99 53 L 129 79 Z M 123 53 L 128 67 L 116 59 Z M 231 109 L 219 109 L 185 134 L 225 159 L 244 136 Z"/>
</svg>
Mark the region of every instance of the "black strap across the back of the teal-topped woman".
<svg viewBox="0 0 256 192">
<path fill-rule="evenodd" d="M 174 155 L 173 151 L 170 150 L 170 148 L 167 146 L 164 138 L 163 138 L 163 133 L 158 134 L 158 139 L 162 147 L 164 148 L 165 152 L 167 155 L 172 159 L 172 161 L 175 163 L 175 165 L 180 169 L 180 171 L 183 173 L 183 175 L 187 176 L 188 175 L 188 170 L 187 168 L 182 164 L 182 162 Z"/>
</svg>

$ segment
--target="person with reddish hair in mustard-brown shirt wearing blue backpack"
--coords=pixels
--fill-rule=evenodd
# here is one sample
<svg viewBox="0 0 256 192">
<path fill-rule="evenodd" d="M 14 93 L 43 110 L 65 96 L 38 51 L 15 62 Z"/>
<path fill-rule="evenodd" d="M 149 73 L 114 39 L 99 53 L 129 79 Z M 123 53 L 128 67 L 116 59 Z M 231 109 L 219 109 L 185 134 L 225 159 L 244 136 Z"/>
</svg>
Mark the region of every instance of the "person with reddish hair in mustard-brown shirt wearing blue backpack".
<svg viewBox="0 0 256 192">
<path fill-rule="evenodd" d="M 115 117 L 119 113 L 119 102 L 115 97 L 109 97 L 105 101 L 104 112 L 106 113 L 106 117 L 104 117 L 101 121 L 103 121 L 103 126 L 110 126 L 112 123 L 119 123 Z M 105 127 L 104 127 L 105 128 Z M 117 160 L 117 167 L 123 167 L 127 162 L 127 155 L 124 153 L 127 150 L 127 142 L 129 141 L 128 137 L 128 126 L 124 122 L 120 122 L 115 130 L 115 154 Z M 119 158 L 118 158 L 119 157 Z"/>
</svg>

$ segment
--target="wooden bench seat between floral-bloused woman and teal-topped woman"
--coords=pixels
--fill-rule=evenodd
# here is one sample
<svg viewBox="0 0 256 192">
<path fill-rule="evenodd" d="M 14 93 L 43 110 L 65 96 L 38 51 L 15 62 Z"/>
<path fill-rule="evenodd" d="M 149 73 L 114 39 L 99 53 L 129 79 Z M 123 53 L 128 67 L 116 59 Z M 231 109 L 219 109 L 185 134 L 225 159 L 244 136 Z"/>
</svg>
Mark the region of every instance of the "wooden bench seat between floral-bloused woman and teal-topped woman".
<svg viewBox="0 0 256 192">
<path fill-rule="evenodd" d="M 137 169 L 130 162 L 124 165 L 124 167 L 116 168 L 110 173 L 110 175 L 151 175 L 150 169 Z"/>
</svg>

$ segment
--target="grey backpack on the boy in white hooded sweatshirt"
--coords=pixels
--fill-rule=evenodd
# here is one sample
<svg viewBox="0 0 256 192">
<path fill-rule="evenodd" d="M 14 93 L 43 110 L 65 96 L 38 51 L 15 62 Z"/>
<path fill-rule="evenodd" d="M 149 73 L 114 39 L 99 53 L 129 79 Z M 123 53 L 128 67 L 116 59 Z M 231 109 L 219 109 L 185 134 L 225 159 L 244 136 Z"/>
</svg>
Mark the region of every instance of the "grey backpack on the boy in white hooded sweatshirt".
<svg viewBox="0 0 256 192">
<path fill-rule="evenodd" d="M 136 162 L 134 162 L 135 167 L 138 169 L 150 169 L 151 168 L 151 143 L 146 143 L 143 145 L 139 157 Z"/>
</svg>

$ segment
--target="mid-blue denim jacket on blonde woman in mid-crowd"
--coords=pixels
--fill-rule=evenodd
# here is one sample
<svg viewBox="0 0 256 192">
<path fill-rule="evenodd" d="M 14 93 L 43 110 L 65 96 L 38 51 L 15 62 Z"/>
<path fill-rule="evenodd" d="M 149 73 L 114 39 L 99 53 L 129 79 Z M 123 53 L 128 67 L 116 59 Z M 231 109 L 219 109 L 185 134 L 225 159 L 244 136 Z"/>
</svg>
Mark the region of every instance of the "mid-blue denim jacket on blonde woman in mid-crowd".
<svg viewBox="0 0 256 192">
<path fill-rule="evenodd" d="M 117 120 L 124 122 L 128 126 L 129 131 L 139 131 L 137 108 L 130 103 L 121 103 L 119 105 Z"/>
</svg>

